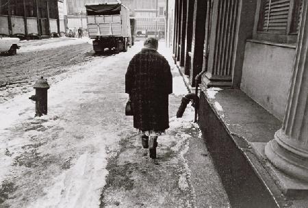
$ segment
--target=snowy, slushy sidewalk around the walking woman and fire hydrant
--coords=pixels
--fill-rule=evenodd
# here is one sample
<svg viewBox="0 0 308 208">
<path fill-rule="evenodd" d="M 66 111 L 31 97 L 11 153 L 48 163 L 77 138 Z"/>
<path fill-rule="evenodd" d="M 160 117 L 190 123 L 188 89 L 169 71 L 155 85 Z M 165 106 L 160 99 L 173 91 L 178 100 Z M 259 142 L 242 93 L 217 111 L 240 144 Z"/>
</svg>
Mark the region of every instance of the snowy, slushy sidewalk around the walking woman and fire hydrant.
<svg viewBox="0 0 308 208">
<path fill-rule="evenodd" d="M 170 129 L 158 140 L 159 159 L 144 156 L 124 113 L 126 68 L 142 47 L 136 42 L 128 53 L 94 57 L 53 84 L 48 116 L 34 118 L 28 99 L 34 92 L 0 104 L 0 206 L 196 207 L 185 153 L 201 133 L 192 107 L 175 118 L 188 91 L 170 51 L 160 45 L 172 68 L 174 94 Z M 219 180 L 215 185 L 222 190 Z"/>
</svg>

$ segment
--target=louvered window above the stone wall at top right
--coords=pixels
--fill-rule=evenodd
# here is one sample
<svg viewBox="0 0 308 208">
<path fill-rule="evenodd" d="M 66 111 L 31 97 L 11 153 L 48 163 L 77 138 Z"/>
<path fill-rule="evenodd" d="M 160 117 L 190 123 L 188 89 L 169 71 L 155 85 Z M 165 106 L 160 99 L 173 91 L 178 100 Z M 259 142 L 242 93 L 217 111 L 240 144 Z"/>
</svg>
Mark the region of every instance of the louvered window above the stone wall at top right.
<svg viewBox="0 0 308 208">
<path fill-rule="evenodd" d="M 259 0 L 259 21 L 254 38 L 295 43 L 303 0 Z"/>
</svg>

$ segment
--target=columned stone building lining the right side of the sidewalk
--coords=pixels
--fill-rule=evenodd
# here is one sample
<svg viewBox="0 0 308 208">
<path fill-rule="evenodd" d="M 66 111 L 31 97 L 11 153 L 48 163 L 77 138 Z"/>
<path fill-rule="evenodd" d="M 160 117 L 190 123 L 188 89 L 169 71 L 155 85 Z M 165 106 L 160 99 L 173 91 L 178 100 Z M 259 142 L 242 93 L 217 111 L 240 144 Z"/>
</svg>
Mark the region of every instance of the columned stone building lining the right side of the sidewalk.
<svg viewBox="0 0 308 208">
<path fill-rule="evenodd" d="M 166 44 L 190 85 L 201 88 L 199 126 L 220 163 L 229 161 L 217 162 L 221 176 L 229 172 L 238 177 L 229 185 L 242 184 L 236 194 L 244 207 L 276 207 L 281 193 L 307 196 L 307 10 L 303 0 L 168 1 Z M 222 89 L 217 100 L 210 88 Z"/>
</svg>

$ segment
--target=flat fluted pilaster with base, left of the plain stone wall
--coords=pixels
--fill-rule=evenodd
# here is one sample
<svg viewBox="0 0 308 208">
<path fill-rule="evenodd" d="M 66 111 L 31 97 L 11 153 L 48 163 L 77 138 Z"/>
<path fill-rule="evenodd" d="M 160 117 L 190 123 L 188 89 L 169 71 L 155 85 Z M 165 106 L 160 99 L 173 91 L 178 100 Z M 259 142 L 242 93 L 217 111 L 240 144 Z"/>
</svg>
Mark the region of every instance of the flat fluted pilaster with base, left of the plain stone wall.
<svg viewBox="0 0 308 208">
<path fill-rule="evenodd" d="M 207 86 L 231 86 L 239 0 L 213 1 Z"/>
</svg>

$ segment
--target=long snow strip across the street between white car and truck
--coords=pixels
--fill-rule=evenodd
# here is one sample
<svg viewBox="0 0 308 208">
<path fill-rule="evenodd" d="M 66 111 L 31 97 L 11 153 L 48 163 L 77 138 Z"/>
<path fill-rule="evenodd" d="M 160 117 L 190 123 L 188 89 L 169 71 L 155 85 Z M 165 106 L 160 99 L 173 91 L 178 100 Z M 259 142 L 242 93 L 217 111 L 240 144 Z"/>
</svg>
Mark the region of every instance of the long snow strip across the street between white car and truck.
<svg viewBox="0 0 308 208">
<path fill-rule="evenodd" d="M 59 47 L 65 47 L 72 44 L 81 44 L 81 43 L 91 43 L 92 41 L 87 38 L 51 38 L 44 40 L 30 40 L 30 41 L 21 41 L 21 49 L 18 50 L 18 53 L 25 53 L 31 51 L 44 51 L 48 49 L 55 49 Z"/>
</svg>

